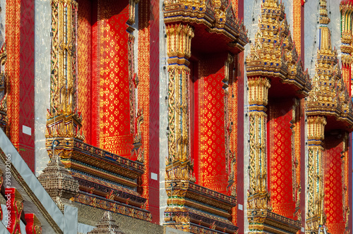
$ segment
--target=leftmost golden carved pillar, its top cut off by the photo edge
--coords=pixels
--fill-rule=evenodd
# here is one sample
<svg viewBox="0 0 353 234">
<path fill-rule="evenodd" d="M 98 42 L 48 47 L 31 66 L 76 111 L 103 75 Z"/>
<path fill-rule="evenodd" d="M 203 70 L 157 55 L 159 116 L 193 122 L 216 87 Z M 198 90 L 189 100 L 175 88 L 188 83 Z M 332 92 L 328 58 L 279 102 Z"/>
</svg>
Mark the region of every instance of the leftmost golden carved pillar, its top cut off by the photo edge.
<svg viewBox="0 0 353 234">
<path fill-rule="evenodd" d="M 74 0 L 52 0 L 52 59 L 50 75 L 50 109 L 47 113 L 47 148 L 53 140 L 76 137 L 81 117 L 77 101 L 77 9 Z M 49 156 L 52 152 L 49 152 Z M 59 154 L 60 152 L 58 152 Z"/>
</svg>

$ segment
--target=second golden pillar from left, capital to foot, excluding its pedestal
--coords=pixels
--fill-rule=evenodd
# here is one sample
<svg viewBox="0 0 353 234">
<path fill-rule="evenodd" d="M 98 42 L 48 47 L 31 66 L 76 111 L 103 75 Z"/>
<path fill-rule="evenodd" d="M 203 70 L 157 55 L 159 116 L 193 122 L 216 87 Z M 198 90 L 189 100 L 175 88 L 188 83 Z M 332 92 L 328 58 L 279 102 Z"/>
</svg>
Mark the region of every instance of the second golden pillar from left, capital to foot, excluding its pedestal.
<svg viewBox="0 0 353 234">
<path fill-rule="evenodd" d="M 168 157 L 167 178 L 193 180 L 189 154 L 189 75 L 193 28 L 189 25 L 167 25 L 168 46 Z M 181 164 L 183 166 L 174 166 Z M 189 166 L 186 166 L 189 164 Z M 184 166 L 185 165 L 185 166 Z M 182 169 L 181 169 L 182 168 Z"/>
</svg>

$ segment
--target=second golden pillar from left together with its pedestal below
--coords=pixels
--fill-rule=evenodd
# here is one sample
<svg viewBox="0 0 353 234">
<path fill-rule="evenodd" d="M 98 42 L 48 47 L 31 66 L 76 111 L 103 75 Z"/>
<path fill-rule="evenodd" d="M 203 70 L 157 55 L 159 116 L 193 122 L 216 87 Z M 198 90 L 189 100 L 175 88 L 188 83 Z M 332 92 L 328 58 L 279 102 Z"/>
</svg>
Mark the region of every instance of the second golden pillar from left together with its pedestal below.
<svg viewBox="0 0 353 234">
<path fill-rule="evenodd" d="M 193 27 L 180 23 L 166 26 L 168 58 L 168 156 L 166 161 L 165 187 L 167 209 L 164 220 L 183 226 L 189 223 L 185 216 L 173 216 L 184 211 L 188 182 L 195 182 L 193 162 L 189 154 L 189 75 L 188 58 L 191 56 Z M 186 224 L 187 226 L 187 224 Z M 184 226 L 185 227 L 185 226 Z M 188 228 L 186 228 L 188 229 Z M 186 230 L 189 231 L 189 230 Z"/>
</svg>

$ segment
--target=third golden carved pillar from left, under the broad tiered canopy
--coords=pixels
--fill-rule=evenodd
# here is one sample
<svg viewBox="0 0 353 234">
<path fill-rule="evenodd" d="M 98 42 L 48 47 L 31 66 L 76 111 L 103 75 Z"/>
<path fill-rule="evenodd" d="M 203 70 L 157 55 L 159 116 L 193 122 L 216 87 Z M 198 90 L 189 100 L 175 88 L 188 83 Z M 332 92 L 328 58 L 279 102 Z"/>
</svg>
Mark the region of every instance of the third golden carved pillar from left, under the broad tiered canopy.
<svg viewBox="0 0 353 234">
<path fill-rule="evenodd" d="M 250 187 L 248 195 L 249 213 L 253 209 L 268 209 L 267 152 L 265 113 L 268 104 L 270 80 L 249 78 L 249 120 L 250 120 Z M 249 219 L 251 214 L 248 214 Z"/>
</svg>

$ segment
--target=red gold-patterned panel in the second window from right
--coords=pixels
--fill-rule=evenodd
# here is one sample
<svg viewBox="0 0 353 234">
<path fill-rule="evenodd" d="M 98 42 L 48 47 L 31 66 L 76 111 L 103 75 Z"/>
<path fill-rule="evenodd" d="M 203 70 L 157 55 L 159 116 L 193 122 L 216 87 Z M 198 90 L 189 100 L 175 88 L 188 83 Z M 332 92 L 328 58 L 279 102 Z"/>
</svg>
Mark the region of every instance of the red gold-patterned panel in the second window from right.
<svg viewBox="0 0 353 234">
<path fill-rule="evenodd" d="M 292 101 L 268 105 L 268 189 L 273 212 L 294 218 L 292 175 Z"/>
</svg>

